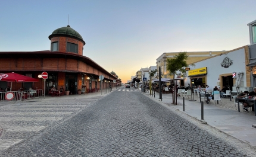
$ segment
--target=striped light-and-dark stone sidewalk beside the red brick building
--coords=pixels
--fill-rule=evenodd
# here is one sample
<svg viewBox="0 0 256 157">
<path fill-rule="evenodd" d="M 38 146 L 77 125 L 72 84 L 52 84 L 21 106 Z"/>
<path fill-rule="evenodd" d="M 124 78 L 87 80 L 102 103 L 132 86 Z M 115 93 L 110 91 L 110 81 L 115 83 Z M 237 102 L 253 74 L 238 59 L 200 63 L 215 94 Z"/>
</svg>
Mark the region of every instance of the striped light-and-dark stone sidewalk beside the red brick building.
<svg viewBox="0 0 256 157">
<path fill-rule="evenodd" d="M 0 152 L 61 123 L 109 93 L 102 90 L 85 95 L 46 95 L 23 102 L 0 103 Z"/>
</svg>

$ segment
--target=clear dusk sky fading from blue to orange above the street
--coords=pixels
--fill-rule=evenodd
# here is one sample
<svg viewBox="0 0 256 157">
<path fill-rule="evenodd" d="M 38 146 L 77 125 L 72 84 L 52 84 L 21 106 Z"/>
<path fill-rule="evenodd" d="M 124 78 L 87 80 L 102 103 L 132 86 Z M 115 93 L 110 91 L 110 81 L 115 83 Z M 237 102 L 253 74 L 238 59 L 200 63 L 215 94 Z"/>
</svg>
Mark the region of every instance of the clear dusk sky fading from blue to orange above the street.
<svg viewBox="0 0 256 157">
<path fill-rule="evenodd" d="M 50 50 L 48 36 L 67 26 L 69 15 L 70 27 L 86 42 L 83 55 L 126 83 L 164 52 L 249 44 L 255 6 L 255 0 L 0 0 L 0 52 Z"/>
</svg>

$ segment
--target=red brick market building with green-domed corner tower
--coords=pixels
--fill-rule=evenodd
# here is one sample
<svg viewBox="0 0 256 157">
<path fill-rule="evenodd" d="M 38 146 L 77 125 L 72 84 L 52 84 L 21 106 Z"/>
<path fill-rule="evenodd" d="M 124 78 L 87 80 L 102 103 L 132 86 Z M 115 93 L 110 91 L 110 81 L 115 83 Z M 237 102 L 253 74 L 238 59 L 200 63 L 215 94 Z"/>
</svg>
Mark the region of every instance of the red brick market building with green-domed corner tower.
<svg viewBox="0 0 256 157">
<path fill-rule="evenodd" d="M 55 86 L 60 89 L 69 89 L 73 94 L 78 89 L 101 88 L 115 86 L 114 80 L 121 83 L 120 79 L 104 68 L 93 62 L 89 57 L 83 56 L 83 41 L 77 31 L 69 25 L 53 31 L 49 36 L 51 50 L 36 52 L 0 52 L 0 73 L 15 72 L 22 75 L 38 78 L 42 72 L 48 72 L 45 82 L 45 91 Z M 100 87 L 99 75 L 104 76 Z M 20 89 L 43 89 L 43 79 L 39 82 L 13 82 L 13 91 Z M 10 82 L 0 81 L 0 87 L 5 89 Z"/>
</svg>

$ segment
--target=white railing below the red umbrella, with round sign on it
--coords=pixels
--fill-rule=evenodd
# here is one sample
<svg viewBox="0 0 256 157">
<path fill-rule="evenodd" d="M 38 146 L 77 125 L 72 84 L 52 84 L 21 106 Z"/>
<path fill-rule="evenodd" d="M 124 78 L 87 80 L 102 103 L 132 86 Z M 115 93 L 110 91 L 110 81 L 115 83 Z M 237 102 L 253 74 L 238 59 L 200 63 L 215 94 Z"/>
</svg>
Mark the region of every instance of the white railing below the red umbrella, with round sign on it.
<svg viewBox="0 0 256 157">
<path fill-rule="evenodd" d="M 0 103 L 11 102 L 11 101 L 24 101 L 24 100 L 30 100 L 30 99 L 42 98 L 42 97 L 43 97 L 42 89 L 36 89 L 36 90 L 30 90 L 30 91 L 0 92 Z"/>
</svg>

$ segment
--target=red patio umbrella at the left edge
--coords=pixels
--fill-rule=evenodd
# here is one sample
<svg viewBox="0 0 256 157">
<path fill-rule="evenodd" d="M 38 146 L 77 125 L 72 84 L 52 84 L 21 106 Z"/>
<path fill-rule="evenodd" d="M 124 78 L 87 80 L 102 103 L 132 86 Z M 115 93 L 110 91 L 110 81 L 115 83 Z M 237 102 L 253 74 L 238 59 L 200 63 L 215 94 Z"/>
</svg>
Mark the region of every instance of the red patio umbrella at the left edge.
<svg viewBox="0 0 256 157">
<path fill-rule="evenodd" d="M 20 75 L 18 73 L 0 73 L 0 81 L 11 82 L 11 86 L 13 82 L 38 82 L 38 79 L 30 78 L 29 76 Z"/>
</svg>

